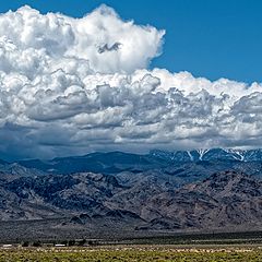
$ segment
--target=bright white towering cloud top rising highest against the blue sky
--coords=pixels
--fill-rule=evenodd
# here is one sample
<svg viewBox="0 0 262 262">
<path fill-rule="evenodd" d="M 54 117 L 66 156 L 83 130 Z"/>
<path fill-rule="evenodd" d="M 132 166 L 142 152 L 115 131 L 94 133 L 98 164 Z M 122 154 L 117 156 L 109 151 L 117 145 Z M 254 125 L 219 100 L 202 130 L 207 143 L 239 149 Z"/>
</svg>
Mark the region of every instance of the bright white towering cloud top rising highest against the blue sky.
<svg viewBox="0 0 262 262">
<path fill-rule="evenodd" d="M 106 5 L 82 19 L 53 13 L 41 15 L 24 7 L 2 14 L 0 25 L 0 35 L 16 45 L 27 67 L 38 67 L 43 60 L 39 56 L 46 55 L 58 61 L 63 58 L 87 60 L 92 70 L 102 73 L 130 73 L 145 68 L 159 55 L 165 34 L 152 26 L 124 22 Z M 39 55 L 37 61 L 35 52 Z M 53 66 L 55 61 L 50 62 Z"/>
</svg>

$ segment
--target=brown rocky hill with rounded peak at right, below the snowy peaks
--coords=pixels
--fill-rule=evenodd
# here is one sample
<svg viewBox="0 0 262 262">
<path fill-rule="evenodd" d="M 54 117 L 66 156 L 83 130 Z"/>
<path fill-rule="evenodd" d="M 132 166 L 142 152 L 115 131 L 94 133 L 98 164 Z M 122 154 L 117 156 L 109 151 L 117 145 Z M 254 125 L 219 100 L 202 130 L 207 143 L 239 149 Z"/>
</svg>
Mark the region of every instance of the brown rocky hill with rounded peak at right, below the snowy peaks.
<svg viewBox="0 0 262 262">
<path fill-rule="evenodd" d="M 243 174 L 214 174 L 203 181 L 168 190 L 151 198 L 142 217 L 150 228 L 222 228 L 261 225 L 262 183 Z M 159 227 L 159 225 L 158 225 Z"/>
</svg>

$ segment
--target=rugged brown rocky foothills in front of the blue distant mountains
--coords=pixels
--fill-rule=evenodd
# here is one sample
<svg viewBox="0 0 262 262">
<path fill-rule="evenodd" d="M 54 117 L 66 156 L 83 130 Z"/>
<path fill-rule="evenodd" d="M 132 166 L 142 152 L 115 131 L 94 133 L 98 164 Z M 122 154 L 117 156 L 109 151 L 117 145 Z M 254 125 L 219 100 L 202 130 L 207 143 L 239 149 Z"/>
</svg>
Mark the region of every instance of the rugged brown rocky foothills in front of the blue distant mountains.
<svg viewBox="0 0 262 262">
<path fill-rule="evenodd" d="M 262 182 L 252 176 L 222 171 L 183 186 L 177 184 L 174 175 L 153 171 L 128 182 L 119 177 L 92 172 L 2 176 L 0 218 L 64 218 L 61 227 L 121 225 L 131 230 L 262 225 Z"/>
</svg>

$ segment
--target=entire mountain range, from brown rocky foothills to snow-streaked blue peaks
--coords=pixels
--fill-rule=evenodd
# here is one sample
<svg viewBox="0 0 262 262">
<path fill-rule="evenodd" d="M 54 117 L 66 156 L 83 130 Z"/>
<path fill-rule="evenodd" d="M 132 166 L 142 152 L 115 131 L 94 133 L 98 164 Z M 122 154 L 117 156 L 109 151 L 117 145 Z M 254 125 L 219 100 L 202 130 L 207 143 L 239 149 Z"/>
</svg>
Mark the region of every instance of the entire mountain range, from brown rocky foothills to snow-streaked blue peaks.
<svg viewBox="0 0 262 262">
<path fill-rule="evenodd" d="M 260 228 L 261 176 L 262 150 L 1 160 L 0 227 L 52 221 L 56 230 L 90 233 Z"/>
</svg>

